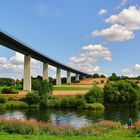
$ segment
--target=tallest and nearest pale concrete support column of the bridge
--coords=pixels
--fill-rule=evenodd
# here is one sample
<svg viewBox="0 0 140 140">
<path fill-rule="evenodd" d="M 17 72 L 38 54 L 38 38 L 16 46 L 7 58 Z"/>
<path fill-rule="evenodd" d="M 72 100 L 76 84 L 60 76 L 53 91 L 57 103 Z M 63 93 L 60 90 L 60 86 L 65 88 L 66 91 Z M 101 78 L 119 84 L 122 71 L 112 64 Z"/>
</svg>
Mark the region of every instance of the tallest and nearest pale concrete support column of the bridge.
<svg viewBox="0 0 140 140">
<path fill-rule="evenodd" d="M 23 90 L 31 91 L 31 55 L 24 56 Z"/>
</svg>

